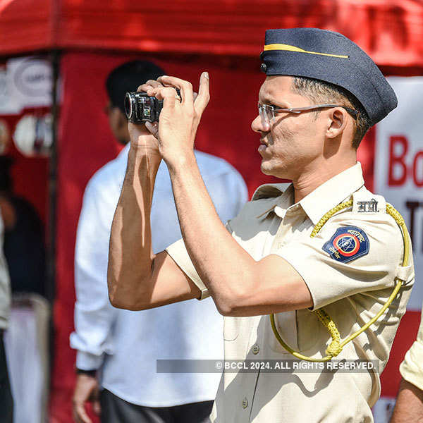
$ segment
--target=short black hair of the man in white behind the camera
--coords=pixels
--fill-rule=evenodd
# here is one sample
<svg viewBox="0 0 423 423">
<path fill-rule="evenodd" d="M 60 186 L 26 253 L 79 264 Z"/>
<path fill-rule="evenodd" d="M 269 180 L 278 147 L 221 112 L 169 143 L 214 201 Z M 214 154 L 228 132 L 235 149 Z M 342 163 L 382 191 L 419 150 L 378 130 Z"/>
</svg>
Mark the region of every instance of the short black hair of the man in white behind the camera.
<svg viewBox="0 0 423 423">
<path fill-rule="evenodd" d="M 163 69 L 150 61 L 134 60 L 115 68 L 106 79 L 106 90 L 111 106 L 125 113 L 125 93 L 136 91 L 147 80 L 155 80 L 164 75 Z"/>
</svg>

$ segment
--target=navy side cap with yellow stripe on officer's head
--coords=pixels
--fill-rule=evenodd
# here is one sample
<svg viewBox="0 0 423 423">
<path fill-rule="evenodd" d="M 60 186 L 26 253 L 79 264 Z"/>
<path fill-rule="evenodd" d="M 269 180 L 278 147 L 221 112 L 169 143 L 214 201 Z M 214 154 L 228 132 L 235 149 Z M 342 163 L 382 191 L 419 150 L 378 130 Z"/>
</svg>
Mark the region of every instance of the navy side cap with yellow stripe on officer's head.
<svg viewBox="0 0 423 423">
<path fill-rule="evenodd" d="M 305 76 L 343 87 L 362 104 L 372 125 L 398 104 L 376 63 L 338 32 L 317 28 L 266 30 L 264 44 L 260 57 L 266 75 Z"/>
</svg>

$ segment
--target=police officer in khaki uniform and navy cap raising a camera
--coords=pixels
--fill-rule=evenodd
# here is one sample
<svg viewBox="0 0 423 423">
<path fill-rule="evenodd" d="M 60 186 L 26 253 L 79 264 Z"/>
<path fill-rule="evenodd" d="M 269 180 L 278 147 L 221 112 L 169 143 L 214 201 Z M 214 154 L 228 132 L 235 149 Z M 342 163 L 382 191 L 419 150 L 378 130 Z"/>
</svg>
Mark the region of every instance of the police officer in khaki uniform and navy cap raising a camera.
<svg viewBox="0 0 423 423">
<path fill-rule="evenodd" d="M 381 371 L 413 271 L 399 218 L 364 187 L 356 152 L 367 129 L 396 107 L 396 95 L 372 59 L 336 32 L 268 30 L 262 62 L 266 79 L 252 122 L 261 169 L 293 183 L 263 185 L 225 228 L 192 154 L 209 75 L 202 73 L 197 97 L 189 82 L 169 76 L 141 85 L 164 99 L 164 109 L 159 124 L 130 125 L 109 297 L 116 307 L 145 309 L 211 295 L 225 316 L 226 360 L 281 360 L 288 349 L 312 360 L 374 360 Z M 183 239 L 152 255 L 149 208 L 161 159 Z M 399 293 L 388 301 L 394 286 Z M 321 307 L 326 314 L 314 312 Z M 333 336 L 329 347 L 320 319 Z M 375 370 L 223 372 L 212 420 L 371 422 L 379 393 Z"/>
</svg>

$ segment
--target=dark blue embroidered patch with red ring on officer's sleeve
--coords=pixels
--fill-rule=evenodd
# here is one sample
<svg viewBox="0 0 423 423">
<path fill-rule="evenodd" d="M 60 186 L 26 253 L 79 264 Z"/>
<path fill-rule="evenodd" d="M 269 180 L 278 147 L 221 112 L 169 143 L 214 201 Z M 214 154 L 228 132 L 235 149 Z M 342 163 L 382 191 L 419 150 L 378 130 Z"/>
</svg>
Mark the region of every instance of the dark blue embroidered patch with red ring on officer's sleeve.
<svg viewBox="0 0 423 423">
<path fill-rule="evenodd" d="M 322 247 L 337 262 L 348 263 L 369 252 L 369 238 L 357 226 L 336 229 L 331 239 Z"/>
</svg>

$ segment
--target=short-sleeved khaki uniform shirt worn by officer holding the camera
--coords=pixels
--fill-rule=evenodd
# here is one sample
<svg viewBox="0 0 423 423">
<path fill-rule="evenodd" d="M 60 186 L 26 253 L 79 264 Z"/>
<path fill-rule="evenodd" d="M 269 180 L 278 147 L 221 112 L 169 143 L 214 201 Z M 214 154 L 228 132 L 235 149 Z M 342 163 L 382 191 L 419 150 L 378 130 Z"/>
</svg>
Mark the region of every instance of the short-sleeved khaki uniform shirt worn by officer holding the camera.
<svg viewBox="0 0 423 423">
<path fill-rule="evenodd" d="M 350 198 L 353 210 L 331 217 L 318 235 L 310 238 L 321 216 Z M 372 199 L 377 200 L 376 208 Z M 307 284 L 313 309 L 324 307 L 345 339 L 383 307 L 396 274 L 401 274 L 403 237 L 385 208 L 383 197 L 364 188 L 357 163 L 298 204 L 293 204 L 292 185 L 285 192 L 281 184 L 263 185 L 227 228 L 253 259 L 270 254 L 286 259 Z M 343 245 L 345 256 L 333 252 L 331 257 L 326 243 L 333 245 L 341 238 L 351 241 L 350 233 L 345 232 L 351 226 L 357 236 L 353 250 Z M 207 288 L 192 266 L 183 240 L 167 252 L 202 290 L 202 298 L 206 297 Z M 387 312 L 345 345 L 336 360 L 378 360 L 380 369 L 384 368 L 410 295 L 412 265 L 402 269 L 402 274 L 407 284 Z M 312 357 L 326 355 L 330 336 L 311 310 L 278 313 L 276 325 L 294 350 Z M 276 340 L 269 316 L 226 317 L 223 338 L 226 360 L 293 359 Z M 374 372 L 223 372 L 211 418 L 219 423 L 372 422 L 370 407 L 379 394 L 379 374 Z"/>
</svg>

